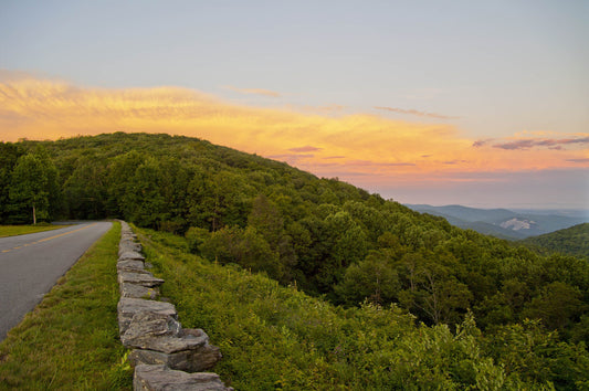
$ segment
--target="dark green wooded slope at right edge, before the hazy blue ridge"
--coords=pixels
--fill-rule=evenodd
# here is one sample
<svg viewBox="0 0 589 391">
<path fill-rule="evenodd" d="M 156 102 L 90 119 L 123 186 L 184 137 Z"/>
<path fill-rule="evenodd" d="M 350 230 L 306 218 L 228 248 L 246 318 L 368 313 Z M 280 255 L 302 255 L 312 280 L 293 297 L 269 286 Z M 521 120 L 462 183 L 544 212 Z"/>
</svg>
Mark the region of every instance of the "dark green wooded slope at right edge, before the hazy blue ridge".
<svg viewBox="0 0 589 391">
<path fill-rule="evenodd" d="M 520 243 L 540 247 L 540 252 L 557 252 L 589 260 L 589 223 L 528 237 Z"/>
</svg>

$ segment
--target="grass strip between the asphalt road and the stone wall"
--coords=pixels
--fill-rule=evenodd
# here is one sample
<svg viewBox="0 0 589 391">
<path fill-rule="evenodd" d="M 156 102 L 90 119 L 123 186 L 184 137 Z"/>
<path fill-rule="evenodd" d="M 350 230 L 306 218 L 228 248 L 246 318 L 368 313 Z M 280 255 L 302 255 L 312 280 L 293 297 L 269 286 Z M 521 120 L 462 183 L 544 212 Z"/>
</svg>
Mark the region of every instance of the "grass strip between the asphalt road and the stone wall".
<svg viewBox="0 0 589 391">
<path fill-rule="evenodd" d="M 0 344 L 0 389 L 130 389 L 118 340 L 115 223 Z"/>
</svg>

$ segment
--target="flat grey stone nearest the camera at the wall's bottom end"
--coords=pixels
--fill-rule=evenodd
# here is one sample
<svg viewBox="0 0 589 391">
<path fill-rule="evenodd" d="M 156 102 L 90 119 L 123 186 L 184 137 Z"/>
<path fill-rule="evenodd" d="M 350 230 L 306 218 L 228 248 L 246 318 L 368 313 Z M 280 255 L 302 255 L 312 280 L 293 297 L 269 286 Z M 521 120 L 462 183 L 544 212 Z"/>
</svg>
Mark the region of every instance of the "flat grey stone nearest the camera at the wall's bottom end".
<svg viewBox="0 0 589 391">
<path fill-rule="evenodd" d="M 223 384 L 217 373 L 186 373 L 166 366 L 141 364 L 135 368 L 133 389 L 140 390 L 178 390 L 178 391 L 227 391 L 232 390 Z"/>
</svg>

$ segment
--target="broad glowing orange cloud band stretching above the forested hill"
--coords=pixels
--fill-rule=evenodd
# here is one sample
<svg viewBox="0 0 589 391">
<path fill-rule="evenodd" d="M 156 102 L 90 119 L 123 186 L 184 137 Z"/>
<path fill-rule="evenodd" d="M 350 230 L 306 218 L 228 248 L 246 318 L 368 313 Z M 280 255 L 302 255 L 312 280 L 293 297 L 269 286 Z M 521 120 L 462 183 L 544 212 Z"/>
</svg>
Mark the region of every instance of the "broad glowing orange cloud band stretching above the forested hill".
<svg viewBox="0 0 589 391">
<path fill-rule="evenodd" d="M 318 176 L 338 176 L 368 187 L 418 179 L 463 181 L 482 171 L 589 167 L 589 135 L 551 135 L 553 142 L 546 134 L 526 134 L 529 145 L 548 148 L 506 149 L 496 146 L 509 140 L 477 141 L 448 124 L 240 106 L 178 87 L 85 88 L 22 74 L 3 76 L 0 74 L 0 140 L 4 141 L 119 130 L 168 133 L 273 157 Z"/>
</svg>

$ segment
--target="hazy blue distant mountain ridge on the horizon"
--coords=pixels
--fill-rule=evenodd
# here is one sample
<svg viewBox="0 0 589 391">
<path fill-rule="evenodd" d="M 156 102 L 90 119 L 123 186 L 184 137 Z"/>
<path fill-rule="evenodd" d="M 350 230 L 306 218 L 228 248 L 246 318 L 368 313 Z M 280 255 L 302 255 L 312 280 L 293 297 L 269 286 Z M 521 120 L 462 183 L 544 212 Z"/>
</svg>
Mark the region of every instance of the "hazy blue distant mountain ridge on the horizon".
<svg viewBox="0 0 589 391">
<path fill-rule="evenodd" d="M 589 222 L 587 211 L 533 211 L 508 209 L 477 209 L 463 205 L 433 207 L 406 204 L 406 207 L 448 220 L 452 225 L 470 229 L 501 239 L 522 240 L 572 225 Z"/>
</svg>

